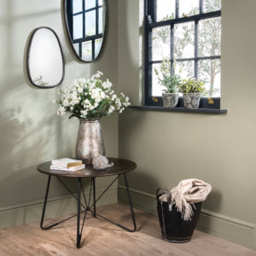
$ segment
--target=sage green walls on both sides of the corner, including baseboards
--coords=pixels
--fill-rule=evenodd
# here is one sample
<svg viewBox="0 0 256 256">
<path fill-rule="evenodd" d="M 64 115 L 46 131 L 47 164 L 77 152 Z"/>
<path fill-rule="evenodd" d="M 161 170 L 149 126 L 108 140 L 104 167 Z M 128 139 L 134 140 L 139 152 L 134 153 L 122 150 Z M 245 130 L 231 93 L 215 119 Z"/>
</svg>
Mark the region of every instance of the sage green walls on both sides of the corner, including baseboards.
<svg viewBox="0 0 256 256">
<path fill-rule="evenodd" d="M 61 22 L 61 1 L 0 0 L 0 226 L 38 220 L 46 177 L 38 163 L 72 155 L 78 121 L 57 117 L 56 89 L 26 84 L 23 57 L 29 33 L 50 26 L 58 33 L 66 58 L 63 84 L 90 77 L 100 69 L 119 90 L 142 102 L 143 1 L 108 0 L 108 41 L 94 64 L 75 61 Z M 254 0 L 223 0 L 222 108 L 227 115 L 161 113 L 128 110 L 102 119 L 108 155 L 137 162 L 129 175 L 137 207 L 155 211 L 154 191 L 179 180 L 199 177 L 212 184 L 200 227 L 216 236 L 255 247 Z M 118 14 L 118 15 L 117 15 Z M 118 134 L 119 133 L 119 134 Z M 119 147 L 119 152 L 118 152 Z M 100 191 L 107 183 L 98 181 Z M 119 181 L 119 200 L 125 201 Z M 50 215 L 73 210 L 61 186 L 54 183 Z M 115 191 L 103 202 L 115 201 Z"/>
</svg>

